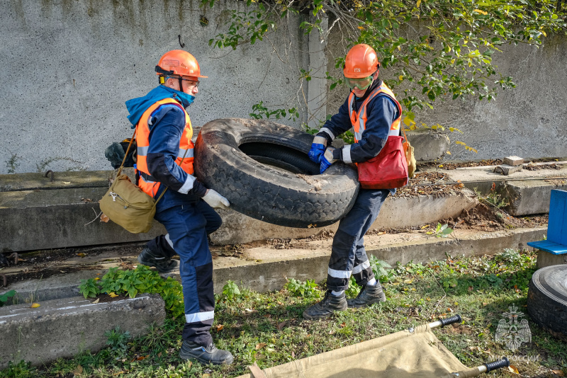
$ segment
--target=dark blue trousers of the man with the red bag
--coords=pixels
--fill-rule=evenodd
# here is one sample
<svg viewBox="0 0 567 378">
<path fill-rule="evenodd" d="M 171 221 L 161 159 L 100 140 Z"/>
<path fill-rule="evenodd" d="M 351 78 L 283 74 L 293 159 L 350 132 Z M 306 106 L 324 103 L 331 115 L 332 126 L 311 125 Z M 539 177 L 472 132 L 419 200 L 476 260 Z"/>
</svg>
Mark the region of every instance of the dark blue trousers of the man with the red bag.
<svg viewBox="0 0 567 378">
<path fill-rule="evenodd" d="M 332 239 L 331 258 L 327 271 L 328 290 L 347 290 L 352 275 L 358 285 L 374 278 L 364 249 L 364 234 L 378 217 L 390 190 L 361 189 L 354 206 L 339 222 Z"/>
</svg>

